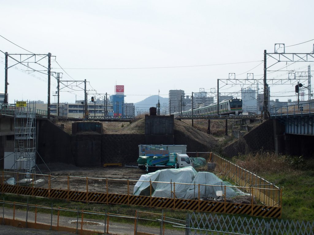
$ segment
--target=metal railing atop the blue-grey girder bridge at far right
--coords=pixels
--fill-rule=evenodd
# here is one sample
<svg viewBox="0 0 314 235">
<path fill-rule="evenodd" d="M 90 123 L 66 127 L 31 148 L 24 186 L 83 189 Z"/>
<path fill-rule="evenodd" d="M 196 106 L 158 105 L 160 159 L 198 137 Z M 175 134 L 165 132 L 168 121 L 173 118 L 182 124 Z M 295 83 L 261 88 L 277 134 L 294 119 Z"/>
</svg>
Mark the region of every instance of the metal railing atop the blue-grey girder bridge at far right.
<svg viewBox="0 0 314 235">
<path fill-rule="evenodd" d="M 272 107 L 270 109 L 270 116 L 273 118 L 287 118 L 300 115 L 313 115 L 314 102 L 300 103 L 294 105 L 287 105 L 283 107 Z"/>
</svg>

